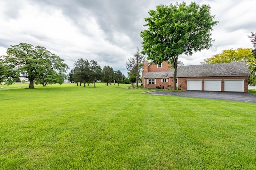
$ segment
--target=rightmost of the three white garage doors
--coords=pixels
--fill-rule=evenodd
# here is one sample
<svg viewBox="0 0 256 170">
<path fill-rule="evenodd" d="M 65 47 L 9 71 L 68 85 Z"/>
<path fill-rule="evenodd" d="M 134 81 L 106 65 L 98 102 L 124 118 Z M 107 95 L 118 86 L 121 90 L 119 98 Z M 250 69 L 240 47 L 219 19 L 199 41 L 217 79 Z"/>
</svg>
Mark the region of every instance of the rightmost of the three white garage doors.
<svg viewBox="0 0 256 170">
<path fill-rule="evenodd" d="M 244 92 L 244 80 L 225 80 L 225 92 Z"/>
</svg>

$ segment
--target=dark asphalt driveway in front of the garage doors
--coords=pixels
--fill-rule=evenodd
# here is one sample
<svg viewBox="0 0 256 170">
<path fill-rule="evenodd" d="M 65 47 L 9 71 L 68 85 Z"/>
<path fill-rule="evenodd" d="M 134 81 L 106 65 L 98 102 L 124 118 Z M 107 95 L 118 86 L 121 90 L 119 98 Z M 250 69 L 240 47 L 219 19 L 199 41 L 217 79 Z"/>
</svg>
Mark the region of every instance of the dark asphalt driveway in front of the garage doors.
<svg viewBox="0 0 256 170">
<path fill-rule="evenodd" d="M 256 103 L 255 95 L 250 93 L 244 93 L 244 92 L 210 92 L 210 91 L 190 91 L 190 90 L 183 91 L 183 92 L 172 92 L 172 91 L 155 90 L 155 91 L 147 92 L 147 94 Z"/>
</svg>

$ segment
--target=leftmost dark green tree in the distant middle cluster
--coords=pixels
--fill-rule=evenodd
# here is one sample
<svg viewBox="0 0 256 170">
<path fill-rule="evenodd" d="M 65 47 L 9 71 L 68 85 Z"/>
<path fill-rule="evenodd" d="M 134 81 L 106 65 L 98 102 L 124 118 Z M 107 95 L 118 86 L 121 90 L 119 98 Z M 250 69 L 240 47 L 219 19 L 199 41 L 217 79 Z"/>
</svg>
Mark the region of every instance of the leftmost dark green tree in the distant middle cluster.
<svg viewBox="0 0 256 170">
<path fill-rule="evenodd" d="M 74 80 L 77 82 L 83 82 L 85 87 L 86 82 L 90 80 L 90 68 L 88 60 L 80 58 L 75 62 L 74 66 Z"/>
</svg>

